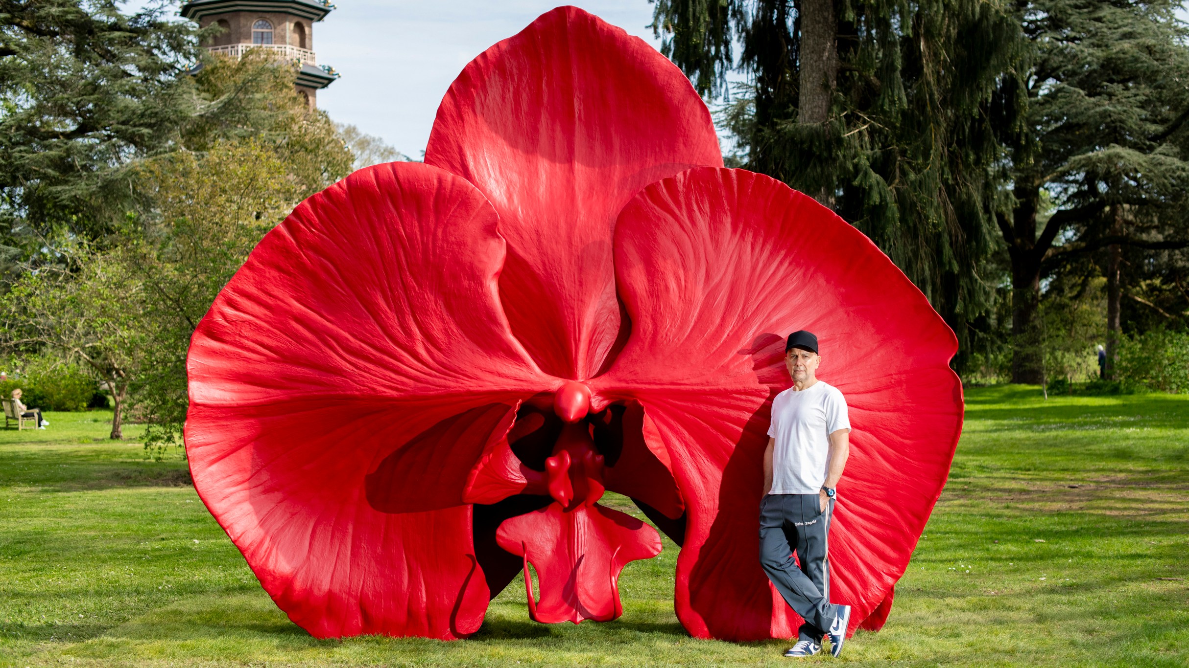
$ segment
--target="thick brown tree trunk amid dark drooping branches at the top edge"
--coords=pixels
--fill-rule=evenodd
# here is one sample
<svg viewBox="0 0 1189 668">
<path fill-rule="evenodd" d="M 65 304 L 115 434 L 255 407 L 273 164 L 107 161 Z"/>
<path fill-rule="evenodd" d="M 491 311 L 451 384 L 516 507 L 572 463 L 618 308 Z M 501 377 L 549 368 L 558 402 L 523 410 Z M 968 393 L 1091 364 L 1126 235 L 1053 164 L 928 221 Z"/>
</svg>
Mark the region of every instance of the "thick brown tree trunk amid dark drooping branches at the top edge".
<svg viewBox="0 0 1189 668">
<path fill-rule="evenodd" d="M 798 121 L 824 123 L 838 81 L 838 24 L 833 0 L 800 0 L 800 90 Z"/>
</svg>

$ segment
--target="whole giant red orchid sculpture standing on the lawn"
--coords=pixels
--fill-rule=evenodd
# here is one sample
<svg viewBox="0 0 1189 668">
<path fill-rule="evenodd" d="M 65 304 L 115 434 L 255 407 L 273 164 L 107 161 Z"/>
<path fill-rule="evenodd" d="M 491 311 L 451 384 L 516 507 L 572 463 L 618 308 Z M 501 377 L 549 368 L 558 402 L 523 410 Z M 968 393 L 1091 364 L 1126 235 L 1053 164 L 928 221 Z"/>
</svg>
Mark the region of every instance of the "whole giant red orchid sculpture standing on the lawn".
<svg viewBox="0 0 1189 668">
<path fill-rule="evenodd" d="M 681 546 L 692 635 L 787 637 L 759 501 L 800 329 L 854 425 L 832 598 L 877 629 L 961 430 L 952 332 L 831 211 L 723 168 L 660 53 L 562 7 L 463 70 L 424 164 L 351 174 L 252 252 L 194 335 L 190 470 L 317 637 L 465 637 L 529 564 L 534 619 L 619 616 L 661 541 L 604 490 Z"/>
</svg>

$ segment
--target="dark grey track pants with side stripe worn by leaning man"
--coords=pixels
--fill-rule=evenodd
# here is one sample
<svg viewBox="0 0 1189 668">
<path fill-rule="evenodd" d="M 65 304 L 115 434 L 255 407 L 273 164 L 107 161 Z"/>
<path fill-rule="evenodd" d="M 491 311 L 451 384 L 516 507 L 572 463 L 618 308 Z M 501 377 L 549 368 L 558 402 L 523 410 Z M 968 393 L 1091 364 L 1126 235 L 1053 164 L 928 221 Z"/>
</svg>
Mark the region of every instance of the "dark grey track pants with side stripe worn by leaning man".
<svg viewBox="0 0 1189 668">
<path fill-rule="evenodd" d="M 816 643 L 838 616 L 838 606 L 830 603 L 826 553 L 831 515 L 833 500 L 823 513 L 816 494 L 769 494 L 760 501 L 760 564 L 780 596 L 805 619 L 799 640 Z"/>
</svg>

